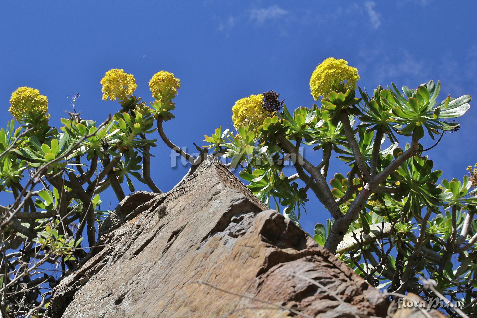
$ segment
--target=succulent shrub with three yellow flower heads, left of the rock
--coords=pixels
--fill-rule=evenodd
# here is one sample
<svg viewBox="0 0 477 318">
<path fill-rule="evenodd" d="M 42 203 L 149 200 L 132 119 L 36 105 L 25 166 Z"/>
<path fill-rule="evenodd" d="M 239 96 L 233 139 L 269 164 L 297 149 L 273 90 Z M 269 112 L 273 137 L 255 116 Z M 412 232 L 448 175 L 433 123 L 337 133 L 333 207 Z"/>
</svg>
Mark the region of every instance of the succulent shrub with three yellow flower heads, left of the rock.
<svg viewBox="0 0 477 318">
<path fill-rule="evenodd" d="M 197 158 L 182 151 L 163 130 L 163 122 L 174 118 L 180 88 L 174 74 L 154 74 L 149 105 L 134 95 L 135 78 L 122 69 L 107 71 L 101 85 L 103 100 L 119 103 L 103 123 L 76 112 L 79 95 L 57 128 L 50 126 L 48 98 L 39 90 L 19 87 L 11 95 L 14 119 L 0 129 L 0 191 L 11 195 L 0 205 L 1 267 L 10 266 L 10 274 L 0 278 L 0 295 L 8 295 L 10 304 L 2 313 L 44 310 L 49 289 L 43 285 L 55 286 L 62 276 L 43 279 L 40 269 L 50 263 L 71 272 L 96 244 L 97 228 L 110 213 L 100 198 L 105 190 L 111 188 L 121 201 L 124 185 L 135 191 L 135 179 L 161 192 L 150 175 L 149 151 L 157 140 L 147 136 L 157 130 L 167 146 L 194 164 L 191 170 L 205 158 L 205 150 Z M 15 129 L 16 123 L 21 126 Z"/>
</svg>

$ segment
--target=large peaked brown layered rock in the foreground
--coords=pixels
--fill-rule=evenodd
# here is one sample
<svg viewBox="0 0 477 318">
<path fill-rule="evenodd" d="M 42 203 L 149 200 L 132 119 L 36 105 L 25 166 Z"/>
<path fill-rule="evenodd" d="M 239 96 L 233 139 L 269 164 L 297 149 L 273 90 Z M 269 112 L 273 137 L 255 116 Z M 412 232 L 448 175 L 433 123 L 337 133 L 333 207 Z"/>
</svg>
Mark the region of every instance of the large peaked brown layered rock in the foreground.
<svg viewBox="0 0 477 318">
<path fill-rule="evenodd" d="M 97 246 L 48 317 L 386 316 L 378 290 L 213 158 L 174 191 L 126 197 Z"/>
</svg>

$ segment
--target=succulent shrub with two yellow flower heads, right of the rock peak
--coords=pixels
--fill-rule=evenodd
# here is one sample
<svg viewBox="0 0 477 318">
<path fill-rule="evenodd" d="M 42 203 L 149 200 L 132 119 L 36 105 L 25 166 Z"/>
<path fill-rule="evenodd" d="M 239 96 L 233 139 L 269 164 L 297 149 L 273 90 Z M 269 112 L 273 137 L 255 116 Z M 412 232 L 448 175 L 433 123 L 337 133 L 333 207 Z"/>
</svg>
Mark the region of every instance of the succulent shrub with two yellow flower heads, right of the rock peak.
<svg viewBox="0 0 477 318">
<path fill-rule="evenodd" d="M 327 58 L 310 79 L 320 106 L 292 111 L 273 91 L 241 98 L 232 106 L 236 132 L 219 127 L 205 147 L 230 158 L 249 189 L 298 226 L 303 212 L 323 211 L 306 204 L 315 195 L 331 218 L 316 224 L 314 240 L 374 286 L 427 299 L 423 276 L 469 303 L 472 288 L 456 290 L 477 287 L 476 189 L 467 176 L 439 184 L 442 171 L 426 156 L 438 145 L 424 147 L 423 138 L 438 143 L 457 131 L 454 118 L 471 97 L 438 102 L 441 84 L 432 80 L 417 89 L 377 86 L 369 95 L 359 78 L 345 60 Z M 320 161 L 307 159 L 314 151 Z M 346 176 L 330 173 L 333 155 L 348 166 Z M 287 160 L 296 170 L 290 176 Z"/>
</svg>

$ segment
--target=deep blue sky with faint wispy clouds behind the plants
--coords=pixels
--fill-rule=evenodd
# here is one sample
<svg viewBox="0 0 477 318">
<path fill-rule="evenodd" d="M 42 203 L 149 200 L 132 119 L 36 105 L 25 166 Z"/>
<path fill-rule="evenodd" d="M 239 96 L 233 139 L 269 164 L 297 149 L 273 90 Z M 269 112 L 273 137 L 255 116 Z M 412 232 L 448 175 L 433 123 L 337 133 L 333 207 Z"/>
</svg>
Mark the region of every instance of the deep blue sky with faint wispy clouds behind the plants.
<svg viewBox="0 0 477 318">
<path fill-rule="evenodd" d="M 441 80 L 441 99 L 475 96 L 476 10 L 470 0 L 2 1 L 1 126 L 19 86 L 48 96 L 52 126 L 66 117 L 73 92 L 81 94 L 76 105 L 83 118 L 103 121 L 118 107 L 101 99 L 99 81 L 110 68 L 134 74 L 135 93 L 146 101 L 154 73 L 181 79 L 176 119 L 164 128 L 188 148 L 203 144 L 214 128 L 232 126 L 231 106 L 241 97 L 274 89 L 289 108 L 311 106 L 311 72 L 330 56 L 357 67 L 358 85 L 368 91 L 434 79 Z M 428 153 L 445 178 L 461 179 L 477 161 L 477 111 L 470 104 L 460 131 Z M 187 168 L 171 169 L 170 150 L 160 142 L 153 154 L 152 177 L 169 190 Z M 305 153 L 312 162 L 319 155 Z M 330 172 L 342 169 L 333 164 Z M 117 203 L 110 193 L 103 199 Z M 307 210 L 301 221 L 308 231 L 329 216 L 316 200 Z"/>
</svg>

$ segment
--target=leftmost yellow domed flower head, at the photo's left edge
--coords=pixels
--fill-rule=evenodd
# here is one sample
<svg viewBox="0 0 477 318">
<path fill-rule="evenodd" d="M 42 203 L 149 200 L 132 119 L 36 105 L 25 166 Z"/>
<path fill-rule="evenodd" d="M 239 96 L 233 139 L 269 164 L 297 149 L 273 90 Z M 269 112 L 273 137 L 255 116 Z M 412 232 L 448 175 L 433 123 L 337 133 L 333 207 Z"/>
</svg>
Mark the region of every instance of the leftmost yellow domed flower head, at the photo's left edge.
<svg viewBox="0 0 477 318">
<path fill-rule="evenodd" d="M 19 87 L 11 93 L 10 108 L 11 116 L 18 122 L 35 122 L 39 119 L 50 118 L 48 111 L 48 99 L 40 95 L 40 91 L 27 86 Z"/>
</svg>

